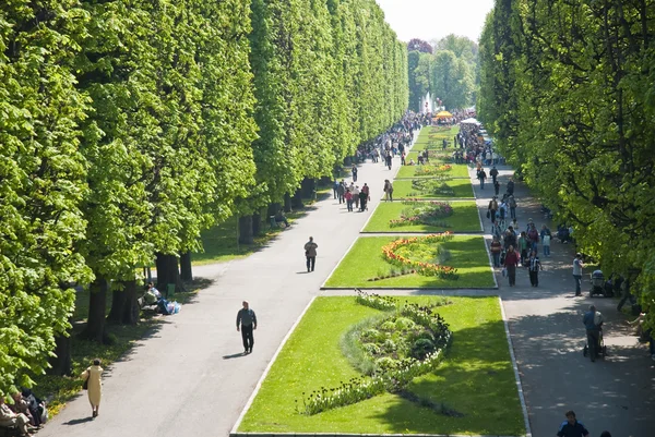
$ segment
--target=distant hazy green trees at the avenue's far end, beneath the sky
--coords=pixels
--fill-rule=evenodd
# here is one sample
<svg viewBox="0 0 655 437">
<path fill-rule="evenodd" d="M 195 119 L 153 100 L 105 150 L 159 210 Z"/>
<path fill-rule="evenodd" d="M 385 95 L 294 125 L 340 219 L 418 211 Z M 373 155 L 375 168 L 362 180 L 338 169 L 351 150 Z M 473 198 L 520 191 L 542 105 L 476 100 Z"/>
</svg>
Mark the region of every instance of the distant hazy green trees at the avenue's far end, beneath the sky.
<svg viewBox="0 0 655 437">
<path fill-rule="evenodd" d="M 478 46 L 462 36 L 448 35 L 432 45 L 413 39 L 407 46 L 409 108 L 419 111 L 428 93 L 446 109 L 469 107 L 476 101 Z"/>
</svg>

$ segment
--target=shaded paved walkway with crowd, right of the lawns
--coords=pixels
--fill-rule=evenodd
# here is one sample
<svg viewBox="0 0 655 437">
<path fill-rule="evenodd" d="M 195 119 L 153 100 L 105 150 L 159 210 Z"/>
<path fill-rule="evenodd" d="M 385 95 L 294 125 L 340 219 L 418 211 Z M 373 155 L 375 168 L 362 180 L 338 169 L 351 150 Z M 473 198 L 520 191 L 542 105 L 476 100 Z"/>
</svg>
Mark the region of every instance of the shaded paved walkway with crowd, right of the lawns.
<svg viewBox="0 0 655 437">
<path fill-rule="evenodd" d="M 498 169 L 502 193 L 513 171 L 508 167 Z M 474 187 L 481 217 L 486 217 L 492 186 L 480 190 L 474 182 Z M 524 185 L 517 183 L 514 193 L 521 230 L 525 230 L 528 218 L 537 229 L 543 223 L 557 229 L 557 223 L 544 220 L 540 204 L 531 198 Z M 485 218 L 484 224 L 489 233 L 489 220 Z M 555 436 L 567 410 L 575 411 L 593 437 L 603 430 L 615 437 L 654 436 L 655 363 L 647 354 L 647 344 L 638 343 L 623 323 L 626 317 L 616 311 L 616 300 L 588 296 L 591 271 L 584 271 L 583 296 L 574 296 L 572 245 L 553 242 L 551 257 L 544 258 L 543 252 L 539 257 L 544 271 L 539 274 L 538 288 L 531 287 L 527 271 L 522 268 L 516 274 L 516 287 L 510 288 L 497 269 L 533 436 Z M 582 315 L 592 303 L 605 317 L 609 354 L 595 363 L 582 355 Z"/>
</svg>

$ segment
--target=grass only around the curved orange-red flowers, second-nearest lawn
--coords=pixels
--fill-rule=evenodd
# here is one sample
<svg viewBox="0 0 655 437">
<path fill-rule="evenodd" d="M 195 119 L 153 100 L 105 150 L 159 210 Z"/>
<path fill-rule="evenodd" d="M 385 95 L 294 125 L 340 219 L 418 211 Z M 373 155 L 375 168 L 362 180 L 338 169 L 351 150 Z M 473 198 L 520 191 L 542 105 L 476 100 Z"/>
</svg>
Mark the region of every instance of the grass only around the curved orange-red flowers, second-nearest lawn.
<svg viewBox="0 0 655 437">
<path fill-rule="evenodd" d="M 463 235 L 455 235 L 449 242 L 442 243 L 443 247 L 451 253 L 450 259 L 443 264 L 457 269 L 460 278 L 456 280 L 412 274 L 369 281 L 368 279 L 386 275 L 392 269 L 398 270 L 382 257 L 382 246 L 397 239 L 397 236 L 359 238 L 327 279 L 325 287 L 467 289 L 496 286 L 485 240 L 481 236 Z"/>
</svg>

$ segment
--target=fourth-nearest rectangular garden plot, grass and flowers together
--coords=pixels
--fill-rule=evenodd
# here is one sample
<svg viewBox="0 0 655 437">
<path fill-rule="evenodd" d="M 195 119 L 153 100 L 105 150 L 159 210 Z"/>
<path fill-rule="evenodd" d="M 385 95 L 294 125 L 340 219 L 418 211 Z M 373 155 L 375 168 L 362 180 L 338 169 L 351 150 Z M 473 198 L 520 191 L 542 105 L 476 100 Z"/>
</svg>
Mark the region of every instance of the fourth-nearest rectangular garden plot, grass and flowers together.
<svg viewBox="0 0 655 437">
<path fill-rule="evenodd" d="M 402 198 L 474 198 L 468 179 L 420 178 L 393 182 L 394 201 Z"/>
</svg>

